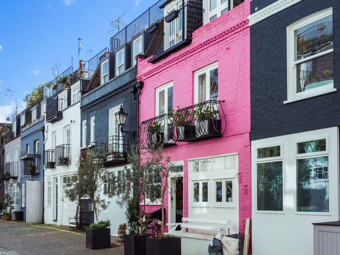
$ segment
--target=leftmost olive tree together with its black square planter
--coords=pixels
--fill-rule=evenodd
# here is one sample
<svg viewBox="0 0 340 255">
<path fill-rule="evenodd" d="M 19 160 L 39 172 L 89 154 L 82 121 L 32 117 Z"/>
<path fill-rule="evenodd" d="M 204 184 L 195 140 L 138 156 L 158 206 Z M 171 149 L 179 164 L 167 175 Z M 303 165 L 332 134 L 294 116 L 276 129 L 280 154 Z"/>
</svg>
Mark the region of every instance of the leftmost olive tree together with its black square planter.
<svg viewBox="0 0 340 255">
<path fill-rule="evenodd" d="M 84 196 L 90 197 L 93 201 L 93 210 L 95 221 L 86 228 L 86 248 L 98 249 L 110 247 L 110 229 L 108 228 L 109 220 L 98 221 L 98 215 L 103 209 L 107 209 L 109 201 L 102 199 L 99 189 L 104 183 L 111 185 L 111 178 L 108 178 L 107 170 L 103 169 L 100 160 L 95 160 L 96 153 L 92 150 L 87 151 L 85 155 L 79 156 L 78 169 L 71 176 L 70 181 L 64 185 L 63 199 L 67 198 L 72 202 L 77 203 L 76 217 L 79 215 L 81 206 L 80 199 Z M 112 194 L 107 194 L 112 197 Z M 100 238 L 98 238 L 100 237 Z"/>
</svg>

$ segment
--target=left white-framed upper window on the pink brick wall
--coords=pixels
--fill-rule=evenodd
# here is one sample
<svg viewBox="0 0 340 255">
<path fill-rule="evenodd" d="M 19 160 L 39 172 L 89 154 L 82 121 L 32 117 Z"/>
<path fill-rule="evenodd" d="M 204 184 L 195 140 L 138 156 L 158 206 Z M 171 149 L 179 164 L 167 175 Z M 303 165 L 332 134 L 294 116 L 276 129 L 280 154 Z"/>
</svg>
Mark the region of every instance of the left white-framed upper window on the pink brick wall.
<svg viewBox="0 0 340 255">
<path fill-rule="evenodd" d="M 156 89 L 156 116 L 172 111 L 173 82 Z"/>
</svg>

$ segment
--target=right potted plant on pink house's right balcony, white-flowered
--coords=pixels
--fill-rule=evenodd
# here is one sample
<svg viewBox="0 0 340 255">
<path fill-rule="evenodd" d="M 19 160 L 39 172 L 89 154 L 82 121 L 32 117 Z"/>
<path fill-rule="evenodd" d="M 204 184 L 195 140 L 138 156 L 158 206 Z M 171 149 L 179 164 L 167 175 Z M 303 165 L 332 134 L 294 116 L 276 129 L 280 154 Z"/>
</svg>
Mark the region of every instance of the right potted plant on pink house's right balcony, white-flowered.
<svg viewBox="0 0 340 255">
<path fill-rule="evenodd" d="M 221 120 L 217 119 L 218 110 L 214 106 L 198 105 L 193 114 L 196 136 L 221 134 Z"/>
</svg>

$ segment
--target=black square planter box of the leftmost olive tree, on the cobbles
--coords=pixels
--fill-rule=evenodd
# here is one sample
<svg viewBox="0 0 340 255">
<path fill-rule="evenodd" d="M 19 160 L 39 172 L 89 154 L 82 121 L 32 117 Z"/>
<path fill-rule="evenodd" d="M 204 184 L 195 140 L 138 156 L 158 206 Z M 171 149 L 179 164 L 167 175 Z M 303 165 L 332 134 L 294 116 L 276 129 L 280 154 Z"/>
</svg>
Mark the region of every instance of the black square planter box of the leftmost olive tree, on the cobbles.
<svg viewBox="0 0 340 255">
<path fill-rule="evenodd" d="M 104 249 L 111 247 L 109 228 L 86 229 L 86 248 Z"/>
</svg>

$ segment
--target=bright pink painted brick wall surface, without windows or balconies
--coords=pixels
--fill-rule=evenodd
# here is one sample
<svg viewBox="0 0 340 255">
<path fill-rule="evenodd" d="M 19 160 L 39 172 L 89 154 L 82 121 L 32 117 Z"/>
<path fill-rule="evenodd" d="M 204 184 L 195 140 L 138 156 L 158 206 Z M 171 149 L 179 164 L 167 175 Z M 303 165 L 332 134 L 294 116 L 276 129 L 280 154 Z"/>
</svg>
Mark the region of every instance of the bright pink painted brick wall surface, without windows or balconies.
<svg viewBox="0 0 340 255">
<path fill-rule="evenodd" d="M 225 100 L 222 104 L 226 117 L 223 137 L 190 144 L 177 142 L 176 146 L 165 149 L 173 150 L 171 160 L 184 160 L 184 216 L 188 216 L 186 160 L 238 153 L 239 230 L 242 233 L 245 219 L 251 217 L 249 14 L 250 3 L 246 0 L 197 29 L 193 33 L 192 43 L 178 52 L 155 64 L 139 58 L 137 76 L 144 82 L 139 106 L 141 122 L 155 116 L 155 89 L 170 81 L 173 81 L 174 109 L 177 105 L 185 107 L 194 104 L 194 71 L 218 61 L 218 99 Z M 166 195 L 166 209 L 167 202 Z M 148 206 L 146 211 L 159 207 Z"/>
</svg>

